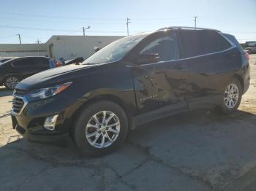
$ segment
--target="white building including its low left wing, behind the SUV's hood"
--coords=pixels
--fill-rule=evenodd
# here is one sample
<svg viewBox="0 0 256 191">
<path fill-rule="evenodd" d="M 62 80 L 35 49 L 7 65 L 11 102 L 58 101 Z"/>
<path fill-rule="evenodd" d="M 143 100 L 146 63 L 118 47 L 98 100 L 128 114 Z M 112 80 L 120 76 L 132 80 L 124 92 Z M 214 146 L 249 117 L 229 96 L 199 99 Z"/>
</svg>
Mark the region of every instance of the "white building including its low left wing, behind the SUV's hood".
<svg viewBox="0 0 256 191">
<path fill-rule="evenodd" d="M 105 47 L 122 37 L 54 35 L 45 44 L 0 44 L 0 58 L 48 55 L 57 60 L 86 59 L 94 53 L 94 47 Z"/>
</svg>

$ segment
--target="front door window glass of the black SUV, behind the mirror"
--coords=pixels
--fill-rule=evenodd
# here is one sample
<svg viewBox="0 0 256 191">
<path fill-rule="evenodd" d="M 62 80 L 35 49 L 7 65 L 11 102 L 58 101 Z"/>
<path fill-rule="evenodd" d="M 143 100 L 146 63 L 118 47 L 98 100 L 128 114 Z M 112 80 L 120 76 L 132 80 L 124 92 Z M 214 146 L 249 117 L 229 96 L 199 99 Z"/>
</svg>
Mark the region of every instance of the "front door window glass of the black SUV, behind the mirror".
<svg viewBox="0 0 256 191">
<path fill-rule="evenodd" d="M 171 61 L 178 59 L 178 43 L 176 34 L 162 36 L 149 43 L 140 54 L 157 54 L 159 61 Z"/>
</svg>

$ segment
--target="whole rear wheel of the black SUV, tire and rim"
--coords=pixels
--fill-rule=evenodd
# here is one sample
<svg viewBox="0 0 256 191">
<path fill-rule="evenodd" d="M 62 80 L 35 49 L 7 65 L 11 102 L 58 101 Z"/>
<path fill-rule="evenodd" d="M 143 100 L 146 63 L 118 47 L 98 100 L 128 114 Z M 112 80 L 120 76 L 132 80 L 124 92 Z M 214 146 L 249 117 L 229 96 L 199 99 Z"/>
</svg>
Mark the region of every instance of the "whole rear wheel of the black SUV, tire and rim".
<svg viewBox="0 0 256 191">
<path fill-rule="evenodd" d="M 233 112 L 236 112 L 236 110 L 238 109 L 238 106 L 241 103 L 241 98 L 243 94 L 242 90 L 243 89 L 241 86 L 241 82 L 239 82 L 238 79 L 236 78 L 232 79 L 225 86 L 225 90 L 223 90 L 223 94 L 222 94 L 222 105 L 221 105 L 222 113 L 232 114 Z M 228 93 L 230 93 L 230 95 Z"/>
</svg>

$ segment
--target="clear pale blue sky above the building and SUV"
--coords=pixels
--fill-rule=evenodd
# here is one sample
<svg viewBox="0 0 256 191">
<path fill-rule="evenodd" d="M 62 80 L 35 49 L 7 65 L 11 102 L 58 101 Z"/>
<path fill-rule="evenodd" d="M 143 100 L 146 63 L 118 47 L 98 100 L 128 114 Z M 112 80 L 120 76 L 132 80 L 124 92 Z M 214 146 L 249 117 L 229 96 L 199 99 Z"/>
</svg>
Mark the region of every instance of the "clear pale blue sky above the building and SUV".
<svg viewBox="0 0 256 191">
<path fill-rule="evenodd" d="M 52 35 L 126 35 L 164 26 L 217 28 L 240 42 L 256 40 L 256 0 L 1 1 L 0 43 L 46 42 Z"/>
</svg>

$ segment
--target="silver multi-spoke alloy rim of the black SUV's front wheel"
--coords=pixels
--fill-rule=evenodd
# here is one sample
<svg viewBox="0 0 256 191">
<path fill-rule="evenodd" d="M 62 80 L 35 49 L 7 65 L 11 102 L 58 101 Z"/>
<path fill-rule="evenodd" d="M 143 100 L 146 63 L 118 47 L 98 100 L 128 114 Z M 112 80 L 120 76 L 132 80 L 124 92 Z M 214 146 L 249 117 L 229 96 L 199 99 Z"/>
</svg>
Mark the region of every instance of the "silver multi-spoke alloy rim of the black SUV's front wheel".
<svg viewBox="0 0 256 191">
<path fill-rule="evenodd" d="M 86 139 L 98 149 L 109 147 L 120 133 L 120 121 L 116 114 L 102 111 L 94 114 L 86 125 Z"/>
</svg>

